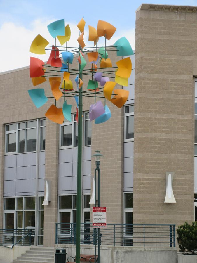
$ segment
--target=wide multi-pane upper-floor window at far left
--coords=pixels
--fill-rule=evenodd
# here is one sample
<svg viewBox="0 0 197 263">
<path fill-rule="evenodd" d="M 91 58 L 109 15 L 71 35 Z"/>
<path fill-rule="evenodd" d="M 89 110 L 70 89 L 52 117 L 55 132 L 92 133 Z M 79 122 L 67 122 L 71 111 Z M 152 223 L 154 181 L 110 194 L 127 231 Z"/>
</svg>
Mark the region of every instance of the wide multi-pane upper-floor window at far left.
<svg viewBox="0 0 197 263">
<path fill-rule="evenodd" d="M 38 127 L 40 127 L 39 148 L 45 150 L 45 119 L 6 124 L 6 154 L 35 152 L 37 149 Z"/>
</svg>

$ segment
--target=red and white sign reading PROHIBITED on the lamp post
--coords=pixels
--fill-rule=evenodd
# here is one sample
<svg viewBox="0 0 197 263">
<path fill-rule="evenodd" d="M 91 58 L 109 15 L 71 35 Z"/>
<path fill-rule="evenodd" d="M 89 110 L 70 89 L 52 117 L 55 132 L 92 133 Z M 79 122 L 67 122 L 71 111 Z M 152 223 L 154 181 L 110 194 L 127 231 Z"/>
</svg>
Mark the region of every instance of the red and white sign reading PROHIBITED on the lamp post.
<svg viewBox="0 0 197 263">
<path fill-rule="evenodd" d="M 106 207 L 93 207 L 93 228 L 105 228 L 106 225 Z"/>
</svg>

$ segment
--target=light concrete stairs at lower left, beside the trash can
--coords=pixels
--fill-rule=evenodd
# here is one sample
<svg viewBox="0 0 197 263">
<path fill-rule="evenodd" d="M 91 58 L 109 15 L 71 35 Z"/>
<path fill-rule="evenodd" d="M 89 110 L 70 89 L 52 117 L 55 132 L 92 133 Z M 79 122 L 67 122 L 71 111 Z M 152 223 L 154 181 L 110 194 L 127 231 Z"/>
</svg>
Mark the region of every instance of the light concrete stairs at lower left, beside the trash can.
<svg viewBox="0 0 197 263">
<path fill-rule="evenodd" d="M 27 250 L 21 257 L 13 260 L 13 263 L 53 263 L 54 262 L 54 248 L 50 247 L 34 247 Z"/>
</svg>

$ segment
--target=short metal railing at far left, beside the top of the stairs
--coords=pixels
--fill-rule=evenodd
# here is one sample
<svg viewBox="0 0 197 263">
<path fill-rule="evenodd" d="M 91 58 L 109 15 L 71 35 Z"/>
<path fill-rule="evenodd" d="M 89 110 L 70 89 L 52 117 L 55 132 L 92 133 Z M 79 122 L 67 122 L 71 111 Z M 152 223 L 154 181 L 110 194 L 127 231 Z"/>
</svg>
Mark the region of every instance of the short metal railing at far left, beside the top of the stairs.
<svg viewBox="0 0 197 263">
<path fill-rule="evenodd" d="M 9 248 L 34 245 L 34 236 L 34 229 L 0 229 L 0 245 Z"/>
</svg>

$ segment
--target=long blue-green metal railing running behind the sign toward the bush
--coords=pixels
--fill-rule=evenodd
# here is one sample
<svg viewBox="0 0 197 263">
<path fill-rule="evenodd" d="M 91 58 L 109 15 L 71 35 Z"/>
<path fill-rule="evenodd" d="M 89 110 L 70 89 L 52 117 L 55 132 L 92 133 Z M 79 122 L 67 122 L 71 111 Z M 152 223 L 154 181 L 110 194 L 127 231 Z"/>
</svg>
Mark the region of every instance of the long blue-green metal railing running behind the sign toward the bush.
<svg viewBox="0 0 197 263">
<path fill-rule="evenodd" d="M 175 225 L 107 224 L 100 229 L 101 245 L 175 247 Z M 81 244 L 97 244 L 91 223 L 81 223 Z M 56 244 L 76 244 L 76 223 L 56 223 Z"/>
</svg>

